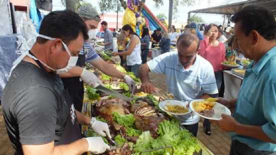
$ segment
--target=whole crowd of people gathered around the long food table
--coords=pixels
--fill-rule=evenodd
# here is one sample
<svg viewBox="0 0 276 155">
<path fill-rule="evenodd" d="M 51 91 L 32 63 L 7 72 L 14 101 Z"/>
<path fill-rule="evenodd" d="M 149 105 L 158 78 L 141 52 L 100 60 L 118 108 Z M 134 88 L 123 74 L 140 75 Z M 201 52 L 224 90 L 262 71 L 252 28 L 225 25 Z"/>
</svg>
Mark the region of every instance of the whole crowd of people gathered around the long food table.
<svg viewBox="0 0 276 155">
<path fill-rule="evenodd" d="M 144 26 L 139 36 L 126 24 L 117 39 L 118 52 L 112 54 L 119 55 L 127 71 L 141 78 L 141 88 L 146 93 L 155 89 L 149 78 L 151 71 L 166 75 L 168 91 L 177 100 L 218 97 L 218 102 L 234 108 L 232 116 L 222 114 L 221 120 L 204 120 L 208 135 L 210 123 L 230 132 L 231 155 L 274 154 L 276 21 L 270 11 L 252 5 L 237 12 L 232 21 L 234 35 L 231 27 L 224 33 L 216 24 L 209 24 L 202 35 L 191 23 L 183 33 L 172 26 L 169 33 L 157 28 L 150 35 L 149 28 Z M 16 154 L 102 153 L 109 149 L 102 137 L 82 138 L 80 134 L 79 124 L 84 124 L 111 137 L 107 123 L 80 112 L 83 82 L 93 87 L 102 85 L 84 64 L 90 63 L 109 76 L 124 79 L 130 91 L 135 82 L 101 59 L 87 42 L 88 30 L 97 28 L 99 22 L 100 16 L 91 6 L 81 6 L 77 13 L 53 11 L 42 20 L 36 43 L 13 70 L 2 96 L 5 123 Z M 105 31 L 104 48 L 112 50 L 113 35 L 108 23 L 100 24 Z M 150 41 L 152 47 L 159 43 L 162 54 L 147 62 Z M 177 50 L 170 51 L 171 45 Z M 245 73 L 238 98 L 227 100 L 221 92 L 222 70 L 227 68 L 221 62 L 235 61 L 239 54 L 252 59 L 253 64 Z M 197 136 L 198 115 L 176 117 Z"/>
</svg>

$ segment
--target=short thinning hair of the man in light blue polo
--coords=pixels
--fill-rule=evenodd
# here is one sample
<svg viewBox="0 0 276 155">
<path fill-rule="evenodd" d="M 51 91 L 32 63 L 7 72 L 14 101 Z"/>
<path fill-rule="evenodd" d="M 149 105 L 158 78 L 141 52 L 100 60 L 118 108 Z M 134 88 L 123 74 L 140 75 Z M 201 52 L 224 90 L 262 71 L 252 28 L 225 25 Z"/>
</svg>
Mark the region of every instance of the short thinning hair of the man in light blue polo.
<svg viewBox="0 0 276 155">
<path fill-rule="evenodd" d="M 181 45 L 185 47 L 189 47 L 194 41 L 197 42 L 197 49 L 199 48 L 199 38 L 192 33 L 182 33 L 179 35 L 177 39 L 177 44 L 181 43 Z"/>
</svg>

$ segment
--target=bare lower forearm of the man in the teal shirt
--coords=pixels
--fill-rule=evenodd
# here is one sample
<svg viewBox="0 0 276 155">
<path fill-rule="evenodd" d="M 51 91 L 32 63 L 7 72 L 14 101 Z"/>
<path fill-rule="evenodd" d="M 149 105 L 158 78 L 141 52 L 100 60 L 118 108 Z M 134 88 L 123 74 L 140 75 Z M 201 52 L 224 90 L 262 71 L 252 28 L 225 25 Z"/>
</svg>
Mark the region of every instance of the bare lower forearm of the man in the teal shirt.
<svg viewBox="0 0 276 155">
<path fill-rule="evenodd" d="M 234 127 L 234 132 L 239 135 L 250 136 L 265 142 L 276 143 L 276 141 L 270 139 L 262 130 L 261 126 L 237 124 Z"/>
</svg>

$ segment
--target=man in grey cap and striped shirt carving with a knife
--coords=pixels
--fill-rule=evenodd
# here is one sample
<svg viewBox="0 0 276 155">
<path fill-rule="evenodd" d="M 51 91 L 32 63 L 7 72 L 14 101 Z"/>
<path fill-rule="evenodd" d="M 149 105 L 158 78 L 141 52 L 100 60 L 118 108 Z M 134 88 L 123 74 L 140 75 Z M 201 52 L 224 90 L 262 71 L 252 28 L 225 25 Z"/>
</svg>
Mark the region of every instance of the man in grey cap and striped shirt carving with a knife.
<svg viewBox="0 0 276 155">
<path fill-rule="evenodd" d="M 88 29 L 91 30 L 98 27 L 100 16 L 91 5 L 81 6 L 78 9 L 78 14 L 82 17 Z M 100 58 L 90 42 L 84 42 L 78 56 L 77 66 L 69 69 L 68 71 L 58 71 L 59 75 L 62 77 L 65 87 L 69 90 L 70 96 L 77 110 L 81 111 L 82 109 L 84 95 L 83 82 L 93 87 L 102 84 L 93 72 L 83 68 L 85 62 L 92 64 L 94 67 L 109 76 L 124 79 L 128 84 L 129 90 L 134 91 L 134 80 L 125 73 L 117 70 L 113 64 L 109 64 Z M 82 81 L 80 81 L 80 79 Z"/>
</svg>

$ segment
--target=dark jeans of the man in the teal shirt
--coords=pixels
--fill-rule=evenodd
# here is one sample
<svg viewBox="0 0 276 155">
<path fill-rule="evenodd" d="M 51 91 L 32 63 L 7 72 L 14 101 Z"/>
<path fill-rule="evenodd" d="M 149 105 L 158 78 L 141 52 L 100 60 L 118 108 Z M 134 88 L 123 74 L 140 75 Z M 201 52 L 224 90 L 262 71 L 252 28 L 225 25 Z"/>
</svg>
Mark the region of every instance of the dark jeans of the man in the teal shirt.
<svg viewBox="0 0 276 155">
<path fill-rule="evenodd" d="M 255 150 L 253 148 L 250 148 L 245 143 L 242 143 L 238 140 L 232 140 L 230 155 L 267 155 L 267 154 L 275 155 L 276 152 Z"/>
</svg>

